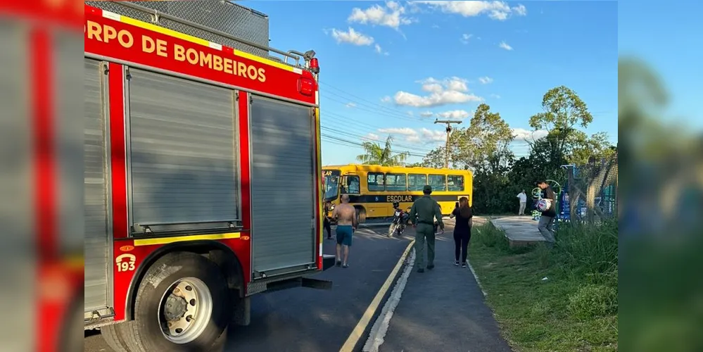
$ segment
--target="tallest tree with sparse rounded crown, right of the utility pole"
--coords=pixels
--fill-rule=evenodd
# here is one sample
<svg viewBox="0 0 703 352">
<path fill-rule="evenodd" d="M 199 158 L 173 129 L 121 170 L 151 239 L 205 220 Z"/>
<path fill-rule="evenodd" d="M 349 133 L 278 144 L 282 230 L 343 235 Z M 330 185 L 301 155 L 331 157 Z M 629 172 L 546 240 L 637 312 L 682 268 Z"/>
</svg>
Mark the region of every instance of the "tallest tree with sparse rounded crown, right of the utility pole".
<svg viewBox="0 0 703 352">
<path fill-rule="evenodd" d="M 576 126 L 588 127 L 593 115 L 588 112 L 586 103 L 565 86 L 550 89 L 542 98 L 542 113 L 530 118 L 530 126 L 535 130 L 547 130 L 552 137 L 555 153 L 566 155 L 568 143 L 573 141 L 578 131 Z"/>
</svg>

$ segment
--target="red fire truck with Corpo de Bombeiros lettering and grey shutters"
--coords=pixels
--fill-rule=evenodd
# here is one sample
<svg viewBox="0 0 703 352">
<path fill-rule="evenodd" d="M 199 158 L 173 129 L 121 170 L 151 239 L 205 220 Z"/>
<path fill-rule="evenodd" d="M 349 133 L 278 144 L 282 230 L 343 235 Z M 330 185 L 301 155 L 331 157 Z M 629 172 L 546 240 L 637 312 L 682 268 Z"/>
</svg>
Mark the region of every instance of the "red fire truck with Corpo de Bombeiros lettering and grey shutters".
<svg viewBox="0 0 703 352">
<path fill-rule="evenodd" d="M 315 52 L 227 1 L 84 9 L 85 329 L 213 351 L 253 294 L 331 288 Z"/>
</svg>

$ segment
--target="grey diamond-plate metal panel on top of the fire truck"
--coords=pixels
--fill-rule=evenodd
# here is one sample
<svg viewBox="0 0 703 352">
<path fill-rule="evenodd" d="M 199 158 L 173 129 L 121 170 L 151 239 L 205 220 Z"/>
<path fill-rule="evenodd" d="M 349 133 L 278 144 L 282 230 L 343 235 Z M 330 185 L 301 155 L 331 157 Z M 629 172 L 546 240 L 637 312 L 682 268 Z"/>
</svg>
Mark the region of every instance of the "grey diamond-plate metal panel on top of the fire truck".
<svg viewBox="0 0 703 352">
<path fill-rule="evenodd" d="M 263 13 L 246 8 L 229 1 L 124 1 L 167 13 L 199 25 L 204 25 L 220 32 L 248 42 L 269 46 L 269 18 Z M 85 4 L 102 8 L 137 20 L 154 23 L 154 13 L 147 13 L 113 1 L 85 1 Z M 158 18 L 158 25 L 185 34 L 207 39 L 230 46 L 246 53 L 270 58 L 267 50 L 242 44 L 221 35 L 191 27 L 167 18 Z"/>
</svg>

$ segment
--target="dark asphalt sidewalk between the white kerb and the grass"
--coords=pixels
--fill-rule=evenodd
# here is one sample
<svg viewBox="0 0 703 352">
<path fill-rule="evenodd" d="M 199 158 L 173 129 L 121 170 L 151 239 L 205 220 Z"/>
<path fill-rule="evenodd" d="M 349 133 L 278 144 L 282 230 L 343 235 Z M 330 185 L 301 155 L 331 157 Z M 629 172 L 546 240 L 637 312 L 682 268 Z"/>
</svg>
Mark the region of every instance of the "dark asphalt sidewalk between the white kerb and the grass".
<svg viewBox="0 0 703 352">
<path fill-rule="evenodd" d="M 471 270 L 454 266 L 453 223 L 447 225 L 437 236 L 435 268 L 412 268 L 380 352 L 512 351 Z"/>
</svg>

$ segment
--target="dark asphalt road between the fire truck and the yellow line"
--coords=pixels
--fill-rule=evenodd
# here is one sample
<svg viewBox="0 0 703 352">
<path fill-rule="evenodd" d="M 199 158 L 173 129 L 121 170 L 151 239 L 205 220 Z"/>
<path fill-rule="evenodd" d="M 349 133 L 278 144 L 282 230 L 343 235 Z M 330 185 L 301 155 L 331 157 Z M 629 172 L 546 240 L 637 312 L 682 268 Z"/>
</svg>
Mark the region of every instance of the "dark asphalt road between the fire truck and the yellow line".
<svg viewBox="0 0 703 352">
<path fill-rule="evenodd" d="M 384 232 L 384 228 L 377 227 Z M 412 228 L 406 235 L 412 236 Z M 334 229 L 333 229 L 334 233 Z M 349 268 L 317 275 L 329 279 L 331 291 L 296 288 L 252 298 L 251 325 L 229 332 L 226 351 L 338 351 L 403 254 L 410 236 L 397 239 L 370 229 L 355 232 Z M 334 239 L 324 253 L 334 254 Z M 362 339 L 362 343 L 365 339 Z M 99 333 L 86 333 L 85 352 L 109 352 Z"/>
</svg>

